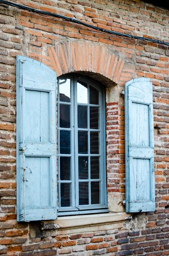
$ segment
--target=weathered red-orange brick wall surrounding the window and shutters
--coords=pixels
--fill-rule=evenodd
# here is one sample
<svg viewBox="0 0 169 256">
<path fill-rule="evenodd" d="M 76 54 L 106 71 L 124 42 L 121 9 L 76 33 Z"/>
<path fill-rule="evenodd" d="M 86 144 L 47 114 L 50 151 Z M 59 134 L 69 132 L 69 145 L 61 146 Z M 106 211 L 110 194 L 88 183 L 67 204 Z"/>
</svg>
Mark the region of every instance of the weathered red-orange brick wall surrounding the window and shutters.
<svg viewBox="0 0 169 256">
<path fill-rule="evenodd" d="M 140 0 L 15 2 L 74 17 L 103 29 L 168 40 L 169 11 Z M 0 253 L 169 255 L 169 49 L 2 5 L 0 29 Z M 107 188 L 111 211 L 124 211 L 121 204 L 125 196 L 124 99 L 120 92 L 132 78 L 150 78 L 154 86 L 155 212 L 133 214 L 131 221 L 124 222 L 123 228 L 117 230 L 70 236 L 51 232 L 47 237 L 32 238 L 30 230 L 35 224 L 17 223 L 16 55 L 41 61 L 58 76 L 85 71 L 106 86 Z"/>
</svg>

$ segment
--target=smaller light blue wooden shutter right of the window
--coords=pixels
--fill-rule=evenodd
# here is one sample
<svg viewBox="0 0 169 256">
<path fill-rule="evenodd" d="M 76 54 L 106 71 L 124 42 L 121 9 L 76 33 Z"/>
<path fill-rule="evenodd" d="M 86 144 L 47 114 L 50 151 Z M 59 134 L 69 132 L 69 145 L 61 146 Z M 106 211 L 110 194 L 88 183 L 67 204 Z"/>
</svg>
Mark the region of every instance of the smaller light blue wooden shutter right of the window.
<svg viewBox="0 0 169 256">
<path fill-rule="evenodd" d="M 126 212 L 155 210 L 152 83 L 125 84 Z"/>
</svg>

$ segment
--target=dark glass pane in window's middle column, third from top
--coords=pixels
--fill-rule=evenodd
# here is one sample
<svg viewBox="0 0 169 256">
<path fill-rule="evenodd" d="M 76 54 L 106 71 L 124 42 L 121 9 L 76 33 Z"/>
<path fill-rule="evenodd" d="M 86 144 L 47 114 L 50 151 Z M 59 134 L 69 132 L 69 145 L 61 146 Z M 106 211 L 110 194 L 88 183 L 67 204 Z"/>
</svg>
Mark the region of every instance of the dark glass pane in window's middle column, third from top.
<svg viewBox="0 0 169 256">
<path fill-rule="evenodd" d="M 88 154 L 88 132 L 78 131 L 78 153 Z"/>
</svg>

